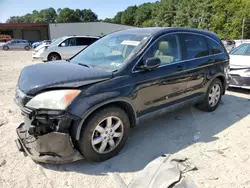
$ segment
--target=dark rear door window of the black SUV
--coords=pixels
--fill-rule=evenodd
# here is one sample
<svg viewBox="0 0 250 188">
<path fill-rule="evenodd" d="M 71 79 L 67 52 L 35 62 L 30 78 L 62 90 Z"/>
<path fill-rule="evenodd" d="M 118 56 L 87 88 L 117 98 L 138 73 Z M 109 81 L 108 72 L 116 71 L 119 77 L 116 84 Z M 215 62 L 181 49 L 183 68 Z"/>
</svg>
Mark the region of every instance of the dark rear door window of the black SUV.
<svg viewBox="0 0 250 188">
<path fill-rule="evenodd" d="M 183 35 L 186 46 L 187 58 L 198 58 L 209 55 L 207 43 L 204 37 L 199 35 Z"/>
</svg>

